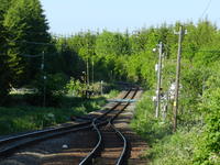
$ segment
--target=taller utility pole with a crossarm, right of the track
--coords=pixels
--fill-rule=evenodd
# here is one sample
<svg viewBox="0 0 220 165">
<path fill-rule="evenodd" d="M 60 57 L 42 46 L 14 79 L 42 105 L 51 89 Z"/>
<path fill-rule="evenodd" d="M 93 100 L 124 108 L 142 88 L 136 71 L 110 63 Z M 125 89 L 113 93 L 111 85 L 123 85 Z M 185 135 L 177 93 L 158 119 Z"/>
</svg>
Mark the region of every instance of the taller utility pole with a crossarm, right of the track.
<svg viewBox="0 0 220 165">
<path fill-rule="evenodd" d="M 175 95 L 174 95 L 174 127 L 173 131 L 176 132 L 177 128 L 177 112 L 178 112 L 178 94 L 179 94 L 179 77 L 180 77 L 180 59 L 182 59 L 182 41 L 184 34 L 183 26 L 179 26 L 179 31 L 175 32 L 178 35 L 178 54 L 177 54 L 177 64 L 176 64 L 176 82 L 175 82 Z"/>
</svg>

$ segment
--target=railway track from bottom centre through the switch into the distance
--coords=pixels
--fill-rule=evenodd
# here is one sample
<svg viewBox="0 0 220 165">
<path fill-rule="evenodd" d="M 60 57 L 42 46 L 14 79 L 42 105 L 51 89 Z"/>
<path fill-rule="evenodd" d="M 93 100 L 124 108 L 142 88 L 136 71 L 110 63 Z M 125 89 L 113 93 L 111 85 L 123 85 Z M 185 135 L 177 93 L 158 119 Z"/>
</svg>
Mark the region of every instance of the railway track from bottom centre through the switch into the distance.
<svg viewBox="0 0 220 165">
<path fill-rule="evenodd" d="M 130 90 L 124 98 L 133 99 L 136 92 L 138 89 Z M 129 157 L 129 142 L 125 136 L 113 125 L 113 121 L 129 105 L 130 102 L 118 103 L 114 108 L 114 114 L 110 113 L 110 117 L 103 123 L 97 122 L 97 119 L 94 120 L 92 127 L 94 130 L 96 130 L 99 140 L 94 150 L 79 163 L 79 165 L 125 164 L 127 158 Z M 111 155 L 111 160 L 106 158 L 106 155 L 109 155 L 109 148 L 116 150 L 114 154 Z"/>
</svg>

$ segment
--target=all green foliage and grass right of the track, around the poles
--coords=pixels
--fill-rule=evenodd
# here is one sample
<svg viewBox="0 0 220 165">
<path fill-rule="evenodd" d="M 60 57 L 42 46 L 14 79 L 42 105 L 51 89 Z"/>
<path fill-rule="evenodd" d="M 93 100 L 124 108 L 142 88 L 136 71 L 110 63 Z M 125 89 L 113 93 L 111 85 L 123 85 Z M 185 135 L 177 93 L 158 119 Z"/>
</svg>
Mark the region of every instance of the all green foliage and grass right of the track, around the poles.
<svg viewBox="0 0 220 165">
<path fill-rule="evenodd" d="M 152 164 L 217 165 L 220 163 L 220 33 L 207 20 L 197 25 L 186 23 L 185 29 L 189 33 L 183 42 L 177 132 L 172 133 L 173 100 L 168 102 L 166 119 L 155 120 L 151 100 L 155 94 L 150 91 L 136 108 L 133 127 L 152 145 L 147 151 Z M 165 36 L 163 92 L 169 94 L 176 74 L 177 38 L 170 33 Z"/>
</svg>

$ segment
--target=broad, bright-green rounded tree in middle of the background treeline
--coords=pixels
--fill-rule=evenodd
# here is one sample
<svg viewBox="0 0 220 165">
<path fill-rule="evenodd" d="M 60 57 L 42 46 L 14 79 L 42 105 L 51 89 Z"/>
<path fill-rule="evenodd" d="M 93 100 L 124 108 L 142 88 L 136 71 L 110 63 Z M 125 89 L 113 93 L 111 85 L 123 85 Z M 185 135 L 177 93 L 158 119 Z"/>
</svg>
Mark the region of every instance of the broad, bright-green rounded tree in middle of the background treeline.
<svg viewBox="0 0 220 165">
<path fill-rule="evenodd" d="M 129 34 L 112 33 L 103 31 L 98 35 L 96 41 L 97 65 L 99 70 L 102 70 L 103 79 L 112 79 L 118 77 L 121 79 L 125 72 L 122 72 L 119 66 L 121 59 L 130 54 Z M 121 56 L 123 56 L 121 58 Z M 108 76 L 107 76 L 108 75 Z"/>
</svg>

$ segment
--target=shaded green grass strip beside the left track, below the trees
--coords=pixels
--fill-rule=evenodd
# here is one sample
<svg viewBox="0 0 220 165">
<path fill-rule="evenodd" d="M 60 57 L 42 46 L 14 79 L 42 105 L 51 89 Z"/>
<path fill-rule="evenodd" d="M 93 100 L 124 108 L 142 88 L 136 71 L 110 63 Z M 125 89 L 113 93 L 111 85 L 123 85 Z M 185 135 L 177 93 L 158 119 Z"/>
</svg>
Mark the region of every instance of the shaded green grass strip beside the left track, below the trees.
<svg viewBox="0 0 220 165">
<path fill-rule="evenodd" d="M 91 99 L 63 97 L 56 107 L 34 107 L 22 96 L 12 96 L 14 103 L 0 107 L 0 135 L 38 130 L 70 120 L 70 116 L 81 116 L 100 109 L 106 98 Z"/>
</svg>

